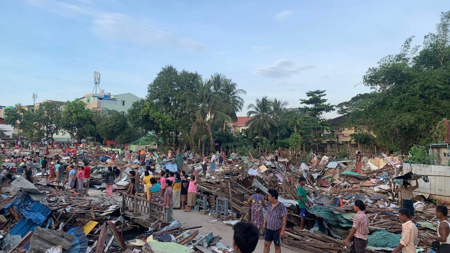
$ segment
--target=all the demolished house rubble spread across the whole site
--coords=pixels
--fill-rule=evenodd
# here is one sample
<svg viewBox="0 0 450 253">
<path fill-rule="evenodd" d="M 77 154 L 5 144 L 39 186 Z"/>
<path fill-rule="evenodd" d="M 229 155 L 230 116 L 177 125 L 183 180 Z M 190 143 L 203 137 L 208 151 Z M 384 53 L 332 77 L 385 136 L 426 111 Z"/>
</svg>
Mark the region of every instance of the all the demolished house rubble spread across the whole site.
<svg viewBox="0 0 450 253">
<path fill-rule="evenodd" d="M 11 155 L 4 155 L 3 161 Z M 196 227 L 183 227 L 180 222 L 167 222 L 162 217 L 144 218 L 129 214 L 125 204 L 125 191 L 129 184 L 129 173 L 138 169 L 144 173 L 139 160 L 132 157 L 129 163 L 123 155 L 112 162 L 111 151 L 78 149 L 76 157 L 67 157 L 57 150 L 50 155 L 60 155 L 63 165 L 69 162 L 91 165 L 90 187 L 103 191 L 108 166 L 117 166 L 121 176 L 116 178 L 113 188 L 123 195 L 123 200 L 105 196 L 81 196 L 76 191 L 67 191 L 56 182 L 30 183 L 20 174 L 0 198 L 0 240 L 3 252 L 42 253 L 163 253 L 163 252 L 233 252 L 220 242 L 213 233 L 200 234 Z M 369 244 L 367 252 L 390 252 L 400 241 L 401 221 L 397 204 L 400 200 L 392 193 L 392 179 L 402 170 L 402 161 L 386 155 L 369 159 L 363 157 L 362 173 L 356 173 L 355 160 L 336 160 L 323 156 L 320 163 L 312 165 L 311 152 L 304 162 L 293 160 L 285 168 L 286 159 L 275 161 L 273 156 L 254 158 L 241 156 L 233 162 L 231 157 L 225 165 L 216 165 L 214 174 L 202 175 L 202 157 L 194 154 L 174 152 L 172 159 L 153 151 L 146 165 L 152 168 L 155 178 L 165 169 L 184 170 L 198 177 L 197 206 L 195 210 L 211 214 L 234 226 L 238 221 L 250 221 L 248 198 L 259 188 L 267 195 L 273 188 L 279 191 L 279 201 L 288 209 L 288 225 L 283 246 L 301 253 L 344 253 L 350 244 L 343 244 L 352 226 L 355 215 L 353 203 L 363 200 L 369 217 Z M 12 167 L 13 165 L 11 165 Z M 209 168 L 209 164 L 208 164 Z M 297 182 L 305 177 L 308 201 L 307 227 L 309 232 L 299 231 L 300 216 L 297 206 Z M 417 175 L 403 175 L 403 178 Z M 399 178 L 402 178 L 400 176 Z M 428 180 L 422 177 L 423 180 Z M 103 191 L 104 192 L 104 191 Z M 425 200 L 415 203 L 419 239 L 435 235 L 437 231 L 435 205 Z M 264 211 L 266 213 L 266 211 Z M 176 217 L 175 217 L 176 218 Z M 147 232 L 132 234 L 139 226 Z M 420 240 L 420 249 L 429 251 L 431 244 Z"/>
</svg>

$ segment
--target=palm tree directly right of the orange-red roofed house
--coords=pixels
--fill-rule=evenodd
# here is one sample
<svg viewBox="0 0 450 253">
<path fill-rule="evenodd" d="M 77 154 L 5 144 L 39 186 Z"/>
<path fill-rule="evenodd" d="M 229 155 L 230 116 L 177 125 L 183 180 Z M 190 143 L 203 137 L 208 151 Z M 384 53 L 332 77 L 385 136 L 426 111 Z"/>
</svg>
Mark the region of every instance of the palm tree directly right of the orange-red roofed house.
<svg viewBox="0 0 450 253">
<path fill-rule="evenodd" d="M 273 104 L 267 98 L 267 96 L 257 98 L 256 104 L 249 104 L 247 109 L 247 116 L 253 116 L 252 119 L 247 121 L 250 127 L 247 129 L 248 133 L 258 133 L 260 142 L 264 134 L 267 134 L 269 138 L 272 138 L 271 128 L 276 125 L 276 121 L 271 117 L 273 113 Z"/>
</svg>

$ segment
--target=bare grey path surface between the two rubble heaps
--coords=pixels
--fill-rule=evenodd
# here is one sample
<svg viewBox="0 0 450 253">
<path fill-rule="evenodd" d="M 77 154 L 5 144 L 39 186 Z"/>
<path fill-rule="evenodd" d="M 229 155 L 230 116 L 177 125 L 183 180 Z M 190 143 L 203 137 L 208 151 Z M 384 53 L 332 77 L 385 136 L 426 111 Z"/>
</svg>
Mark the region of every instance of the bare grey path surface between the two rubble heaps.
<svg viewBox="0 0 450 253">
<path fill-rule="evenodd" d="M 214 217 L 210 215 L 204 215 L 197 211 L 192 211 L 190 213 L 185 213 L 183 210 L 173 210 L 173 214 L 175 220 L 181 222 L 185 227 L 191 226 L 202 226 L 201 228 L 196 228 L 200 233 L 209 233 L 212 232 L 214 236 L 220 235 L 222 240 L 220 240 L 223 244 L 228 247 L 233 247 L 233 227 L 228 226 L 222 221 L 218 220 L 216 222 L 211 222 L 215 220 Z M 258 245 L 254 253 L 262 253 L 264 250 L 264 240 L 259 240 Z M 270 252 L 275 252 L 274 245 L 270 247 Z M 288 249 L 285 247 L 281 247 L 281 252 L 283 253 L 297 253 L 297 251 L 293 251 L 292 249 Z"/>
</svg>

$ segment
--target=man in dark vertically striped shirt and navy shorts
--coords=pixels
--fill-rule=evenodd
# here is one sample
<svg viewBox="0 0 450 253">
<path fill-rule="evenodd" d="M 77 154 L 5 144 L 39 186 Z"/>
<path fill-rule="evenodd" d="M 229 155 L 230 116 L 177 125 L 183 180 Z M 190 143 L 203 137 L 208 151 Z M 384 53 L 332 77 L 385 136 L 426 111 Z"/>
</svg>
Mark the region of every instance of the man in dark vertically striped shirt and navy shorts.
<svg viewBox="0 0 450 253">
<path fill-rule="evenodd" d="M 269 190 L 268 200 L 270 205 L 267 207 L 267 215 L 264 220 L 264 253 L 269 253 L 272 241 L 275 245 L 275 253 L 281 253 L 281 239 L 284 237 L 284 229 L 288 220 L 288 210 L 283 203 L 278 201 L 278 191 Z"/>
</svg>

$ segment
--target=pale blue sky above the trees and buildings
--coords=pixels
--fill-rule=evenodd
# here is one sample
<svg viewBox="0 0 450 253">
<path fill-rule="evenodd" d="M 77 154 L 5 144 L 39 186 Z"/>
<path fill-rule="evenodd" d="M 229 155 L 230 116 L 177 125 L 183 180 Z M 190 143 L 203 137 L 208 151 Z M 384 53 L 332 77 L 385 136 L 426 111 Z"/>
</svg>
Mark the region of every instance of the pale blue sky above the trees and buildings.
<svg viewBox="0 0 450 253">
<path fill-rule="evenodd" d="M 315 89 L 337 104 L 368 92 L 365 71 L 409 36 L 421 44 L 448 9 L 448 0 L 1 1 L 0 105 L 82 97 L 95 70 L 106 92 L 144 97 L 167 64 L 225 74 L 248 92 L 246 105 L 269 96 L 298 107 Z"/>
</svg>

